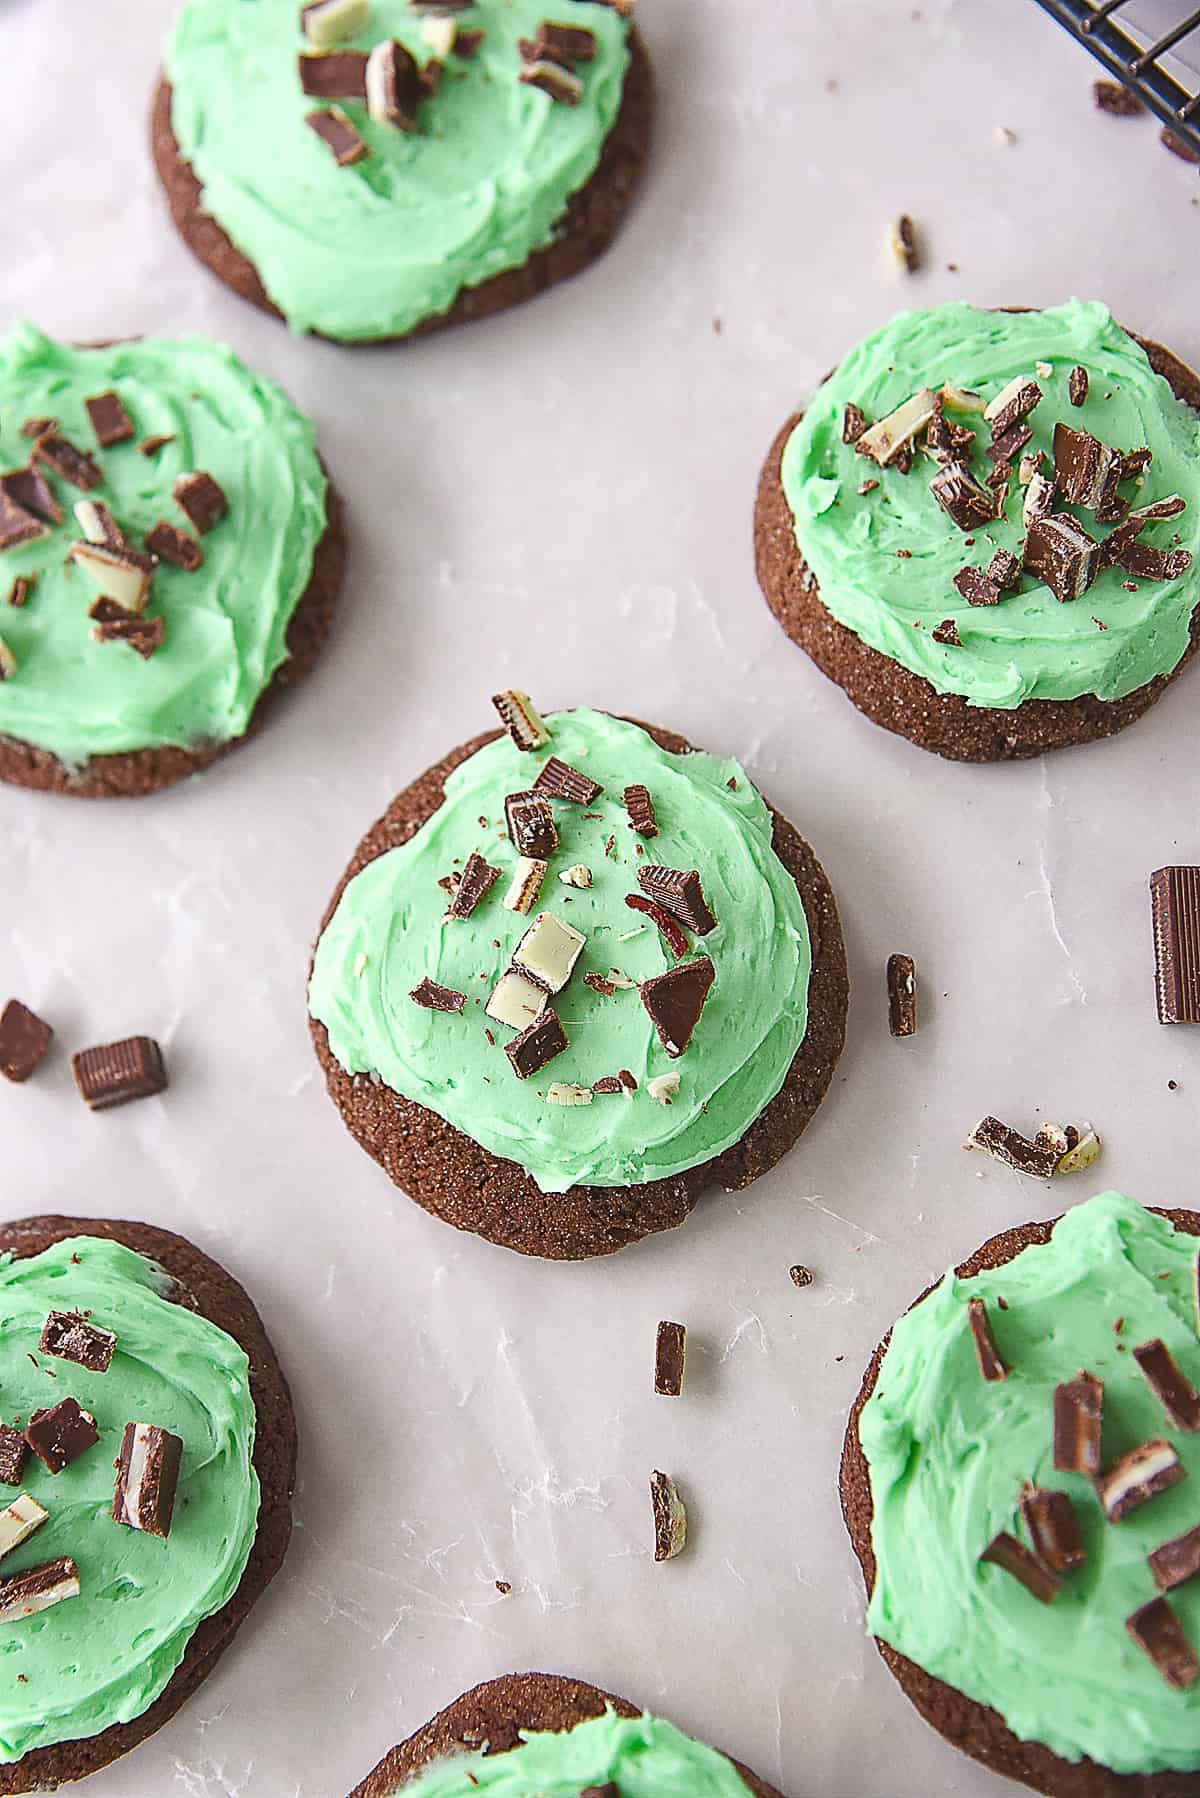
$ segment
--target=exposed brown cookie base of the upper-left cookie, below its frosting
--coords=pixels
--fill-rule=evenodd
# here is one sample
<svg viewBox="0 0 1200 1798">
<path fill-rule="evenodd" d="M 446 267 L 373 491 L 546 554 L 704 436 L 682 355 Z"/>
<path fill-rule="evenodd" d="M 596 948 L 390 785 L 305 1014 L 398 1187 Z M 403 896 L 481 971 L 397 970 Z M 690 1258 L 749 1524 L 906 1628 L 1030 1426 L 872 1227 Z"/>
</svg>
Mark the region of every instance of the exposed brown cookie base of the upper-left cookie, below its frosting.
<svg viewBox="0 0 1200 1798">
<path fill-rule="evenodd" d="M 345 565 L 345 529 L 342 498 L 329 484 L 326 530 L 313 552 L 313 574 L 288 624 L 288 660 L 282 662 L 259 696 L 246 730 L 228 743 L 198 744 L 193 750 L 121 750 L 115 755 L 90 755 L 79 768 L 68 768 L 50 750 L 0 735 L 0 780 L 36 788 L 41 793 L 68 793 L 72 798 L 142 798 L 162 788 L 198 775 L 203 768 L 246 743 L 288 687 L 309 672 L 333 624 L 333 610 L 342 588 Z M 121 644 L 112 654 L 131 654 Z"/>
</svg>

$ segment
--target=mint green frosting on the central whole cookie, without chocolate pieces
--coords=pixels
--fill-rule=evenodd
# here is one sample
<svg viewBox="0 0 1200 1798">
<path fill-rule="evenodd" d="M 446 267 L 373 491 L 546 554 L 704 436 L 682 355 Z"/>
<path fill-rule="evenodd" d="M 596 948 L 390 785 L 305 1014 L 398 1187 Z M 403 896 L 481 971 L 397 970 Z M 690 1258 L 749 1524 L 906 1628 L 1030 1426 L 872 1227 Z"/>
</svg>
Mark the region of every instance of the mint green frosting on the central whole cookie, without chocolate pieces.
<svg viewBox="0 0 1200 1798">
<path fill-rule="evenodd" d="M 551 730 L 545 753 L 604 791 L 590 806 L 554 802 L 560 847 L 533 913 L 500 903 L 516 861 L 504 797 L 533 784 L 543 755 L 522 753 L 504 735 L 450 775 L 444 804 L 416 836 L 349 883 L 317 946 L 309 1007 L 349 1073 L 380 1075 L 484 1149 L 518 1162 L 545 1192 L 640 1185 L 720 1154 L 783 1086 L 808 1021 L 808 922 L 772 849 L 766 804 L 738 762 L 671 755 L 637 725 L 604 712 L 560 712 Z M 658 818 L 658 836 L 644 843 L 621 800 L 631 784 L 649 789 Z M 502 868 L 502 879 L 470 919 L 444 921 L 437 883 L 471 850 Z M 716 930 L 693 939 L 716 980 L 689 1048 L 675 1061 L 635 991 L 603 996 L 583 980 L 615 967 L 640 982 L 675 966 L 653 922 L 624 903 L 639 892 L 640 861 L 696 868 L 716 917 Z M 576 863 L 592 872 L 588 890 L 560 885 Z M 518 1081 L 504 1054 L 513 1032 L 484 1018 L 484 1005 L 538 912 L 574 924 L 587 948 L 552 1000 L 569 1048 Z M 425 976 L 466 992 L 466 1010 L 448 1016 L 416 1005 L 408 994 Z M 631 1097 L 547 1102 L 551 1082 L 590 1086 L 622 1068 L 639 1082 Z M 646 1081 L 669 1072 L 680 1088 L 660 1104 Z"/>
</svg>

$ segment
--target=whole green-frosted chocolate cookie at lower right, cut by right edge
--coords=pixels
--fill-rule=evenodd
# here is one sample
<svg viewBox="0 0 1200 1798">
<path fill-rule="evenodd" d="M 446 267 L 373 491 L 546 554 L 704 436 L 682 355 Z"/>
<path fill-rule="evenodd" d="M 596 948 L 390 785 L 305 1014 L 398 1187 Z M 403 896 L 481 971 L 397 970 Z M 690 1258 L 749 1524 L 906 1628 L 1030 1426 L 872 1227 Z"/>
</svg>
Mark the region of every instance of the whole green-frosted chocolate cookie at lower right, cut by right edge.
<svg viewBox="0 0 1200 1798">
<path fill-rule="evenodd" d="M 1198 1235 L 1105 1192 L 993 1237 L 876 1348 L 846 1435 L 883 1660 L 1051 1798 L 1200 1793 Z"/>
</svg>

